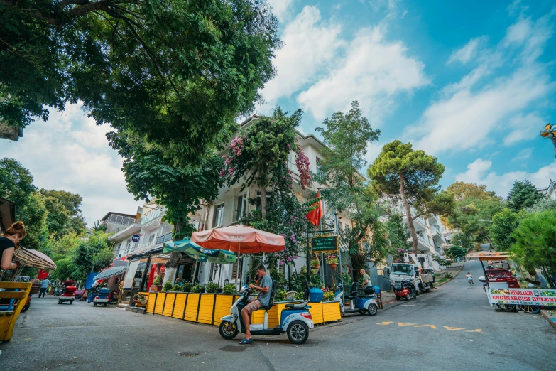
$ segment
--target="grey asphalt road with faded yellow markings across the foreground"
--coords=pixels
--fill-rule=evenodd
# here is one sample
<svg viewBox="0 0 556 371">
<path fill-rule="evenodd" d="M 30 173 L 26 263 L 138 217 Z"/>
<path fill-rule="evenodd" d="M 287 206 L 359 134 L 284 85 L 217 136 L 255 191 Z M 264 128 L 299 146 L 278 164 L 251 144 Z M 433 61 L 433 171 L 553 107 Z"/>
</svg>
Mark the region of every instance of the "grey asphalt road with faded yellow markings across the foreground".
<svg viewBox="0 0 556 371">
<path fill-rule="evenodd" d="M 318 326 L 300 346 L 285 335 L 238 345 L 216 326 L 33 299 L 0 344 L 0 370 L 554 369 L 556 331 L 540 315 L 494 311 L 479 276 L 479 262 L 466 262 L 432 294 Z"/>
</svg>

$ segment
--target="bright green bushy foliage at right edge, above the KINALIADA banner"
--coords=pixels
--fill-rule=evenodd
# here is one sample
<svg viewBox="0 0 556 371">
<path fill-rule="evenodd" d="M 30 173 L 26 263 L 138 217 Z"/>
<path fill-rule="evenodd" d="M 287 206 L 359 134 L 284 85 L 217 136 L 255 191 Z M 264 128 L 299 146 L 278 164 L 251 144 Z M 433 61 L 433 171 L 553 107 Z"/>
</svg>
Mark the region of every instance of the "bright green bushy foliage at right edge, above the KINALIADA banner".
<svg viewBox="0 0 556 371">
<path fill-rule="evenodd" d="M 526 269 L 546 267 L 556 271 L 556 210 L 525 215 L 512 237 L 516 242 L 511 252 Z"/>
</svg>

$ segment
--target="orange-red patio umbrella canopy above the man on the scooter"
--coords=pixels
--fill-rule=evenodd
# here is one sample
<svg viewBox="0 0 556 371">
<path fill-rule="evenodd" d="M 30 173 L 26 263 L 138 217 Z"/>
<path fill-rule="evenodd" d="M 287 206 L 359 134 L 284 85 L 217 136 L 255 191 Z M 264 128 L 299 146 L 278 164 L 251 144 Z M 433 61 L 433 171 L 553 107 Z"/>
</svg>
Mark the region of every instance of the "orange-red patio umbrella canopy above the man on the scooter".
<svg viewBox="0 0 556 371">
<path fill-rule="evenodd" d="M 244 254 L 278 252 L 285 249 L 284 236 L 245 225 L 203 230 L 191 235 L 192 242 L 207 249 L 222 249 Z"/>
</svg>

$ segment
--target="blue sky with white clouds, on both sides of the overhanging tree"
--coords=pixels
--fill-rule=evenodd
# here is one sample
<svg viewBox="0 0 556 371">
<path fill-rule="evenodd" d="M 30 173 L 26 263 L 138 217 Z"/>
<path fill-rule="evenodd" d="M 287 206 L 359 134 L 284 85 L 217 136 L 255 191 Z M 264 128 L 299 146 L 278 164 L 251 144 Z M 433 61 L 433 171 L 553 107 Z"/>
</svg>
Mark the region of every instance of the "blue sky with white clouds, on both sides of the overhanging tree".
<svg viewBox="0 0 556 371">
<path fill-rule="evenodd" d="M 314 132 L 359 100 L 381 129 L 369 163 L 394 139 L 410 141 L 446 166 L 442 185 L 467 181 L 506 196 L 514 180 L 556 180 L 553 1 L 269 0 L 285 46 L 278 76 L 263 89 L 261 114 L 279 104 L 305 112 Z M 42 188 L 84 197 L 92 223 L 107 211 L 135 213 L 121 158 L 79 106 L 51 112 L 20 141 L 1 141 Z"/>
</svg>

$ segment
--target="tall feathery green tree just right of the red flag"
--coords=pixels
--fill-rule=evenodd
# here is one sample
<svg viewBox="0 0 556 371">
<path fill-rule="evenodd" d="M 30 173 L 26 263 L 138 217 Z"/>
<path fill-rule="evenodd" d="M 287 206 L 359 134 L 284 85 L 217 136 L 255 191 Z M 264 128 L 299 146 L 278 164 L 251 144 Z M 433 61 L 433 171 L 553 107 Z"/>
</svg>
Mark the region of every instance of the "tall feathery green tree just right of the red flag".
<svg viewBox="0 0 556 371">
<path fill-rule="evenodd" d="M 378 221 L 374 194 L 359 173 L 366 166 L 367 146 L 377 141 L 381 132 L 371 127 L 357 101 L 351 102 L 348 112 L 332 114 L 315 130 L 326 144 L 315 181 L 327 185 L 322 197 L 329 210 L 336 209 L 351 220 L 349 228 L 339 231 L 339 240 L 349 250 L 357 278 L 367 259 L 379 261 L 393 251 L 386 227 Z"/>
</svg>

